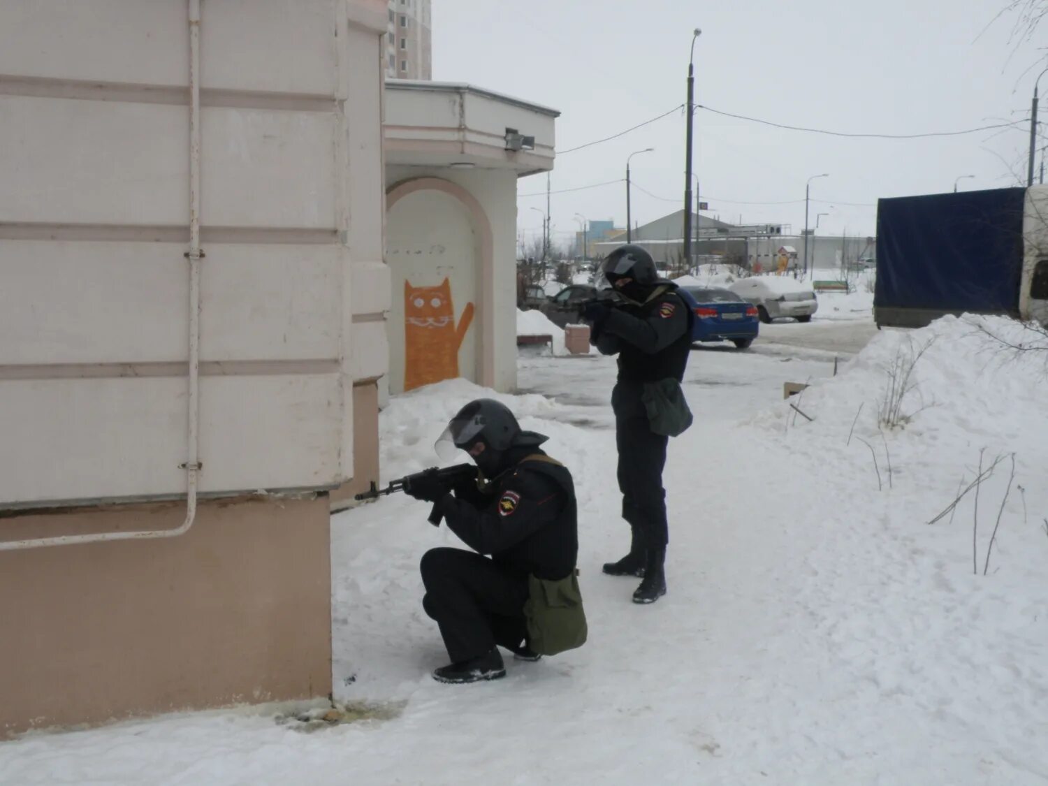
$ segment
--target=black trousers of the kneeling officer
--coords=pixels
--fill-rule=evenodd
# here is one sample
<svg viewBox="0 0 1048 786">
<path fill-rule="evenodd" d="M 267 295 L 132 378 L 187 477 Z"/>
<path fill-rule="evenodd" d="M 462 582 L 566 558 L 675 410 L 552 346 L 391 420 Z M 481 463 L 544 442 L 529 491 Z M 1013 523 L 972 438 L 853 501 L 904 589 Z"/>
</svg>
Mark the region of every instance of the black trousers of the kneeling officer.
<svg viewBox="0 0 1048 786">
<path fill-rule="evenodd" d="M 458 548 L 430 549 L 420 567 L 422 608 L 437 620 L 453 663 L 483 655 L 496 645 L 511 649 L 524 641 L 527 577 Z"/>
</svg>

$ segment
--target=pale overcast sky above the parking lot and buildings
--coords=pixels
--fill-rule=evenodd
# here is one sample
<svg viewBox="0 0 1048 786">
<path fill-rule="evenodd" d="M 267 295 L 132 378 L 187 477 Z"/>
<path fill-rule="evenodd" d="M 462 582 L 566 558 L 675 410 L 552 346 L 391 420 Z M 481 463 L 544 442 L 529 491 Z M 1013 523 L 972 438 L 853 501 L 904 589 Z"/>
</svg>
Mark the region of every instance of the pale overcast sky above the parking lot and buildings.
<svg viewBox="0 0 1048 786">
<path fill-rule="evenodd" d="M 692 30 L 696 103 L 792 126 L 909 134 L 1028 118 L 1035 40 L 1009 41 L 1006 0 L 433 0 L 433 75 L 532 101 L 562 114 L 566 150 L 659 115 L 686 100 Z M 1018 46 L 1018 48 L 1017 48 Z M 1048 63 L 1048 61 L 1045 61 Z M 1028 71 L 1033 67 L 1032 71 Z M 1025 72 L 1025 73 L 1024 73 Z M 1048 79 L 1042 94 L 1048 93 Z M 1042 104 L 1048 119 L 1048 101 Z M 558 156 L 552 190 L 625 177 L 633 218 L 683 205 L 682 110 L 621 138 Z M 805 182 L 818 233 L 869 235 L 878 197 L 991 189 L 1025 178 L 1029 125 L 930 139 L 847 139 L 760 126 L 698 110 L 695 171 L 704 215 L 804 226 Z M 524 129 L 522 132 L 526 133 Z M 1039 143 L 1040 144 L 1048 144 Z M 1002 160 L 1003 159 L 1003 160 Z M 545 176 L 520 181 L 519 233 L 541 233 Z M 650 192 L 654 196 L 643 193 Z M 660 197 L 660 198 L 657 198 Z M 814 200 L 820 201 L 814 201 Z M 747 203 L 750 202 L 750 203 Z M 773 202 L 788 202 L 773 204 Z M 851 203 L 851 204 L 846 204 Z M 625 183 L 553 194 L 554 241 L 580 213 L 626 221 Z"/>
</svg>

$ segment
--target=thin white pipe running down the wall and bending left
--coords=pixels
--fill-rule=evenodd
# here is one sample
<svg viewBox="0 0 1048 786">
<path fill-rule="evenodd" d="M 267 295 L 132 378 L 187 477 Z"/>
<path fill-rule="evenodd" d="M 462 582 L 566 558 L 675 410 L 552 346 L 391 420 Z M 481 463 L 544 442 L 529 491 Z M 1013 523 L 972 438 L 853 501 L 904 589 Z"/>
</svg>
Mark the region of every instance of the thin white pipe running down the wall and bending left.
<svg viewBox="0 0 1048 786">
<path fill-rule="evenodd" d="M 190 25 L 190 369 L 189 369 L 189 458 L 185 470 L 185 521 L 175 529 L 154 529 L 138 532 L 95 532 L 93 534 L 36 538 L 0 543 L 0 551 L 18 551 L 43 546 L 72 546 L 105 541 L 150 540 L 177 538 L 193 526 L 196 519 L 197 475 L 200 427 L 200 0 L 189 0 Z"/>
</svg>

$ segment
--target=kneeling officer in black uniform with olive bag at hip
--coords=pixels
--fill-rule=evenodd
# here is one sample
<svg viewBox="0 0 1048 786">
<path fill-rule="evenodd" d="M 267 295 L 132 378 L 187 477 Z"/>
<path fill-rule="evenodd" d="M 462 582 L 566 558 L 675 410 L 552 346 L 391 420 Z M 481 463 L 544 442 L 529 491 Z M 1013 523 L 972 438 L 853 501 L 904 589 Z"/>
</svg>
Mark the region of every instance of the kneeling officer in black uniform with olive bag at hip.
<svg viewBox="0 0 1048 786">
<path fill-rule="evenodd" d="M 478 479 L 454 493 L 436 480 L 408 489 L 433 502 L 474 549 L 434 548 L 422 556 L 422 608 L 452 659 L 433 673 L 441 682 L 504 677 L 497 645 L 538 660 L 585 641 L 574 486 L 567 468 L 540 450 L 546 440 L 522 431 L 498 401 L 472 401 L 438 445 L 467 452 Z"/>
</svg>

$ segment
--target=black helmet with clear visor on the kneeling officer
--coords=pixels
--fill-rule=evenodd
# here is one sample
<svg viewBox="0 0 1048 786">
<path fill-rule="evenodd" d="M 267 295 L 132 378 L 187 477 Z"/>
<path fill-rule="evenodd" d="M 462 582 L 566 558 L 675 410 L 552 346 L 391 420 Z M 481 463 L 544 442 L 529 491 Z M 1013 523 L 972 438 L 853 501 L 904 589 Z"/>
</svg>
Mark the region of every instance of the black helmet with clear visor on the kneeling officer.
<svg viewBox="0 0 1048 786">
<path fill-rule="evenodd" d="M 538 447 L 547 439 L 542 434 L 523 431 L 505 405 L 492 398 L 478 398 L 470 401 L 451 419 L 436 447 L 441 458 L 445 459 L 450 459 L 450 453 L 454 454 L 456 449 L 471 453 L 481 472 L 494 478 L 504 468 L 502 463 L 507 451 L 512 447 Z M 478 442 L 484 447 L 474 455 L 471 449 Z"/>
</svg>

